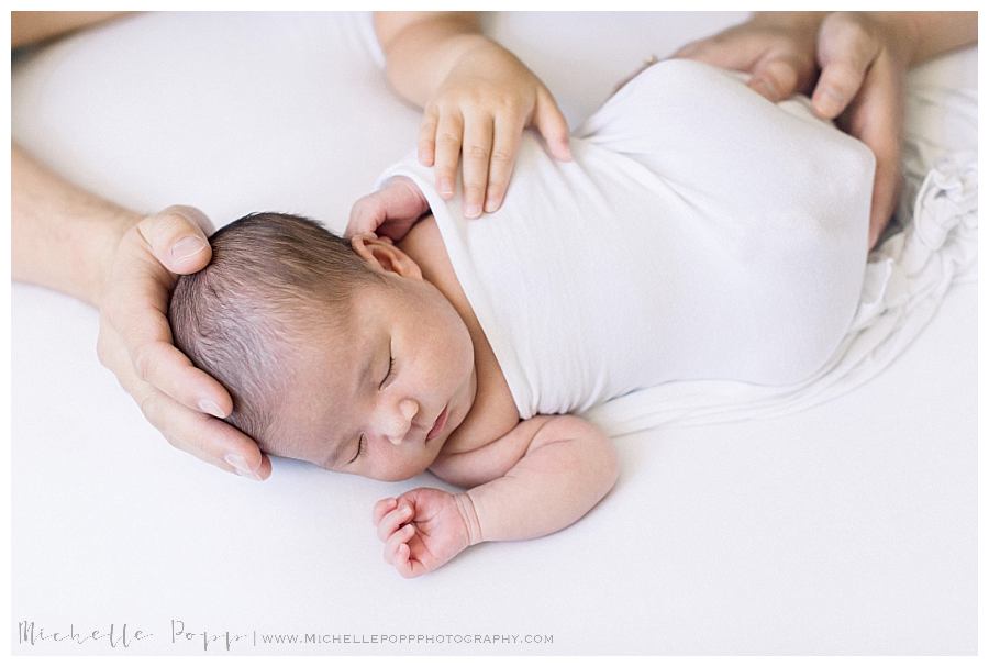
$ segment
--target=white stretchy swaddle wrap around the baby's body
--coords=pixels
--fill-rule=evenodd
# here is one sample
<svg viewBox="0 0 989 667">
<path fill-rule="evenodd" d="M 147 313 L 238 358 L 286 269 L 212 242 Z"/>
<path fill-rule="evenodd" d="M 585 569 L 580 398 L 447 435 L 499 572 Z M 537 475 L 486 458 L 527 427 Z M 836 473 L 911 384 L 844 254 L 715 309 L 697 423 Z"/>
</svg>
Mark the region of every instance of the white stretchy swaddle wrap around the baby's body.
<svg viewBox="0 0 989 667">
<path fill-rule="evenodd" d="M 502 208 L 467 220 L 410 156 L 523 419 L 680 380 L 791 385 L 858 304 L 873 154 L 799 102 L 689 60 L 642 73 L 571 141 L 526 133 Z"/>
</svg>

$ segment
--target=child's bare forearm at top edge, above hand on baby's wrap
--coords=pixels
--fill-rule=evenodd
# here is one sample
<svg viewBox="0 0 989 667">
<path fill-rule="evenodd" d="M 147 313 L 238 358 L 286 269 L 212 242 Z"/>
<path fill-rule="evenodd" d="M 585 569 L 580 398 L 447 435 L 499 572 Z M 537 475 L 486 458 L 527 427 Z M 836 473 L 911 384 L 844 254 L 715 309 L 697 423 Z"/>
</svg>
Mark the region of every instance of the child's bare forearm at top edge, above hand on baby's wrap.
<svg viewBox="0 0 989 667">
<path fill-rule="evenodd" d="M 388 82 L 424 107 L 456 62 L 490 44 L 471 12 L 378 12 L 375 32 L 385 52 Z"/>
</svg>

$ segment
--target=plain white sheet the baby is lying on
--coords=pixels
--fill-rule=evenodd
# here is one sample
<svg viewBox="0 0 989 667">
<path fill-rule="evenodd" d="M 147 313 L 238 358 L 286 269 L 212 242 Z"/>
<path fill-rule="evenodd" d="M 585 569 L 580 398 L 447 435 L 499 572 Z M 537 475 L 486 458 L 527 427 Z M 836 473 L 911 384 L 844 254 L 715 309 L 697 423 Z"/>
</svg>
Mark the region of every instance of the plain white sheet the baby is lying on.
<svg viewBox="0 0 989 667">
<path fill-rule="evenodd" d="M 652 53 L 742 14 L 498 14 L 571 126 Z M 914 76 L 919 76 L 915 74 Z M 226 221 L 342 229 L 408 151 L 363 15 L 155 14 L 15 64 L 13 133 L 77 182 Z M 798 414 L 616 438 L 622 478 L 584 520 L 486 544 L 421 579 L 381 562 L 370 508 L 438 486 L 275 460 L 257 485 L 178 453 L 95 355 L 96 313 L 12 293 L 13 621 L 127 623 L 131 653 L 191 632 L 526 634 L 548 645 L 235 645 L 233 653 L 970 653 L 976 648 L 976 287 L 902 354 Z M 125 653 L 18 643 L 15 653 Z M 225 653 L 213 645 L 207 653 Z"/>
</svg>

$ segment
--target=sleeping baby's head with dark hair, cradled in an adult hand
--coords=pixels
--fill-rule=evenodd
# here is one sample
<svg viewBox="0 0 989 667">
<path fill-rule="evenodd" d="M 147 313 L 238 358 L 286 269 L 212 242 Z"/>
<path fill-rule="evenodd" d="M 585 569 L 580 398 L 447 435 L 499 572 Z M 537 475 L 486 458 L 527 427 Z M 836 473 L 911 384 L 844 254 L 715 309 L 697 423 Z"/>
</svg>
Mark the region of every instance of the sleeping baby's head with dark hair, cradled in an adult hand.
<svg viewBox="0 0 989 667">
<path fill-rule="evenodd" d="M 230 392 L 226 421 L 268 454 L 333 470 L 425 470 L 469 412 L 476 376 L 463 319 L 419 265 L 390 240 L 345 241 L 280 213 L 210 243 L 168 319 L 175 345 Z"/>
</svg>

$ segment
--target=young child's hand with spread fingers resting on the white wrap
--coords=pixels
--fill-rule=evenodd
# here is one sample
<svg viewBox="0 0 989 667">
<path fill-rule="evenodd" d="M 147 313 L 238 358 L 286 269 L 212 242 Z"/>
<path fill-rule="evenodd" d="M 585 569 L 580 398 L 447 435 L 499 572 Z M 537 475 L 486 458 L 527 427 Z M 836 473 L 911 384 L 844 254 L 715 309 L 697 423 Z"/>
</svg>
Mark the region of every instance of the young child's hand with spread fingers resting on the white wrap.
<svg viewBox="0 0 989 667">
<path fill-rule="evenodd" d="M 522 131 L 534 125 L 557 159 L 570 159 L 569 127 L 549 90 L 515 56 L 488 42 L 464 54 L 425 104 L 419 162 L 435 166 L 436 189 L 454 194 L 464 154 L 464 215 L 497 211 Z"/>
</svg>

